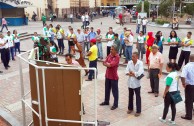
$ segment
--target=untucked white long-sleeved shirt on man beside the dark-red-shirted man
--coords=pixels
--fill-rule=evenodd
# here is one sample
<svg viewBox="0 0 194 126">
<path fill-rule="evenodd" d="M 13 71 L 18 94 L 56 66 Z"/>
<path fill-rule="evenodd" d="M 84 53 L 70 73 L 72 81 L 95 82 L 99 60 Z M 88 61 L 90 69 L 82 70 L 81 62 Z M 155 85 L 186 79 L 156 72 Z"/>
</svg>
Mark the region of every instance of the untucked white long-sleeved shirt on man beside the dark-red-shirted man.
<svg viewBox="0 0 194 126">
<path fill-rule="evenodd" d="M 140 87 L 141 86 L 140 80 L 138 80 L 137 77 L 139 77 L 141 74 L 144 73 L 143 62 L 140 60 L 137 60 L 137 63 L 134 65 L 133 61 L 130 60 L 127 64 L 125 74 L 129 72 L 134 72 L 135 77 L 129 76 L 128 83 L 127 83 L 128 87 L 132 89 Z"/>
</svg>

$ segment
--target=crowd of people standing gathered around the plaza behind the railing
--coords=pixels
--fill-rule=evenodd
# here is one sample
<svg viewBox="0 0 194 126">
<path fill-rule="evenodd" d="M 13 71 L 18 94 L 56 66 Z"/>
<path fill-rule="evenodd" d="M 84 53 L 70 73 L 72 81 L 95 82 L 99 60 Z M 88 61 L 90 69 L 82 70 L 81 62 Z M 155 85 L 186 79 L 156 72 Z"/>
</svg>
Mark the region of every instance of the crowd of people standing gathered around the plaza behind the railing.
<svg viewBox="0 0 194 126">
<path fill-rule="evenodd" d="M 134 39 L 134 34 L 130 28 L 123 28 L 123 32 L 119 35 L 113 32 L 113 28 L 109 27 L 108 32 L 105 36 L 107 43 L 106 56 L 103 54 L 101 30 L 95 29 L 94 27 L 85 26 L 87 23 L 86 16 L 83 15 L 83 30 L 76 29 L 68 26 L 68 30 L 57 25 L 54 27 L 52 24 L 47 25 L 43 23 L 43 36 L 49 39 L 49 53 L 53 62 L 58 62 L 58 55 L 64 54 L 64 40 L 68 41 L 68 53 L 65 54 L 66 64 L 79 65 L 87 68 L 84 58 L 87 57 L 89 60 L 89 68 L 97 69 L 97 61 L 103 61 L 103 66 L 106 67 L 105 73 L 105 99 L 100 104 L 101 106 L 109 105 L 110 91 L 112 90 L 114 103 L 111 110 L 115 110 L 118 107 L 119 100 L 119 89 L 118 89 L 118 66 L 120 58 L 125 58 L 123 64 L 126 64 L 125 74 L 128 76 L 128 90 L 129 90 L 129 103 L 128 103 L 128 114 L 131 114 L 134 110 L 133 107 L 133 96 L 136 94 L 136 114 L 135 116 L 141 115 L 141 79 L 144 77 L 144 65 L 143 56 L 146 54 L 146 64 L 148 66 L 148 73 L 150 79 L 150 91 L 149 94 L 154 94 L 155 97 L 159 96 L 159 80 L 161 79 L 164 58 L 163 49 L 164 42 L 168 42 L 170 46 L 169 50 L 169 63 L 166 65 L 166 70 L 169 72 L 166 77 L 166 88 L 163 94 L 164 98 L 164 112 L 163 117 L 159 118 L 161 122 L 165 122 L 168 108 L 171 105 L 172 119 L 169 120 L 171 124 L 175 124 L 176 115 L 176 104 L 171 98 L 172 95 L 179 92 L 178 86 L 178 73 L 185 62 L 185 66 L 182 69 L 181 80 L 183 87 L 185 88 L 185 104 L 186 104 L 186 115 L 183 119 L 192 119 L 192 109 L 194 101 L 194 55 L 191 55 L 191 45 L 193 40 L 191 39 L 192 32 L 188 32 L 185 38 L 178 37 L 176 31 L 172 30 L 167 39 L 162 35 L 161 31 L 158 31 L 155 36 L 153 32 L 146 33 L 146 21 L 142 24 L 143 31 L 140 31 L 140 21 L 138 21 L 137 39 Z M 139 17 L 140 18 L 140 17 Z M 144 19 L 147 20 L 147 19 Z M 1 48 L 1 60 L 5 69 L 7 70 L 10 60 L 15 60 L 16 50 L 20 53 L 20 34 L 16 30 L 11 34 L 10 31 L 4 36 L 0 33 L 0 48 Z M 57 43 L 55 43 L 57 40 Z M 40 43 L 40 36 L 37 32 L 34 32 L 32 37 L 34 44 Z M 136 42 L 134 44 L 134 42 Z M 137 52 L 134 51 L 134 46 L 137 48 Z M 177 63 L 178 48 L 181 48 L 181 54 Z M 72 60 L 73 56 L 75 60 Z M 190 59 L 190 63 L 189 63 Z M 88 76 L 86 81 L 92 81 L 97 77 L 94 70 L 85 70 L 85 76 Z"/>
</svg>

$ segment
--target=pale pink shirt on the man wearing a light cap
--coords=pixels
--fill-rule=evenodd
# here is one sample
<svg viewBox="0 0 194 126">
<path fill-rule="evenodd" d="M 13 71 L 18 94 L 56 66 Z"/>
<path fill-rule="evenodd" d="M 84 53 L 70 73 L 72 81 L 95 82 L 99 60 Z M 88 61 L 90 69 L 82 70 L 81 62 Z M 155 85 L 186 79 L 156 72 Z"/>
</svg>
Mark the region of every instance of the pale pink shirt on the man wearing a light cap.
<svg viewBox="0 0 194 126">
<path fill-rule="evenodd" d="M 160 52 L 155 55 L 151 52 L 149 56 L 150 69 L 160 69 L 160 64 L 164 63 L 164 58 Z"/>
</svg>

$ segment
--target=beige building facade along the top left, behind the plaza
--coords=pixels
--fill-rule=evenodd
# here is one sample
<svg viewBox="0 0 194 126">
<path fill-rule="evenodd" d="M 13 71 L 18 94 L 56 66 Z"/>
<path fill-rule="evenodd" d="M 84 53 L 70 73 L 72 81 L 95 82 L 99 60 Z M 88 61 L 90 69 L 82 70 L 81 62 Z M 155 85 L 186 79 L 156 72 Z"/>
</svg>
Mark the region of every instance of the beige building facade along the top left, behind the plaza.
<svg viewBox="0 0 194 126">
<path fill-rule="evenodd" d="M 70 13 L 79 13 L 90 11 L 95 7 L 100 6 L 101 0 L 28 0 L 33 4 L 33 7 L 26 8 L 25 11 L 32 16 L 33 11 L 37 16 L 41 14 L 49 16 L 50 13 L 55 13 L 59 18 Z"/>
</svg>

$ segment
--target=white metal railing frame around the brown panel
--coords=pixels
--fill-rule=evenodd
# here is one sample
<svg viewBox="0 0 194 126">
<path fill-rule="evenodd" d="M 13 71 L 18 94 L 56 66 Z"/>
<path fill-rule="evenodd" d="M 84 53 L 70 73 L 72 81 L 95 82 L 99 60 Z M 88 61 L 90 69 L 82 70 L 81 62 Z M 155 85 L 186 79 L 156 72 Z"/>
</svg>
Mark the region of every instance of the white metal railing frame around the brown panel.
<svg viewBox="0 0 194 126">
<path fill-rule="evenodd" d="M 38 51 L 38 48 L 35 48 L 35 50 Z M 46 122 L 46 126 L 48 126 L 48 122 L 69 122 L 69 123 L 81 123 L 83 124 L 93 124 L 95 126 L 97 126 L 98 122 L 97 122 L 97 70 L 96 68 L 74 68 L 74 67 L 44 67 L 44 66 L 37 66 L 33 63 L 31 63 L 30 61 L 28 61 L 27 59 L 25 59 L 24 57 L 22 57 L 24 54 L 28 54 L 31 50 L 24 52 L 22 54 L 19 54 L 19 72 L 20 72 L 20 84 L 21 84 L 21 102 L 22 102 L 22 112 L 23 112 L 23 126 L 26 126 L 26 110 L 25 110 L 25 105 L 27 107 L 29 107 L 31 109 L 31 111 L 37 115 L 37 117 L 39 118 L 40 121 L 40 126 L 42 126 L 42 118 L 41 118 L 41 106 L 40 106 L 40 89 L 39 89 L 39 76 L 38 76 L 38 70 L 41 69 L 42 70 L 42 77 L 43 77 L 43 94 L 44 94 L 44 107 L 45 107 L 45 122 Z M 39 57 L 39 54 L 38 54 Z M 37 113 L 32 107 L 31 105 L 29 105 L 26 100 L 25 97 L 31 92 L 28 91 L 26 94 L 24 93 L 24 83 L 23 83 L 23 73 L 22 73 L 22 63 L 21 61 L 24 61 L 25 63 L 28 63 L 32 66 L 35 67 L 36 70 L 36 83 L 37 83 L 37 93 L 38 93 L 38 101 L 37 101 L 37 105 L 39 108 L 39 113 Z M 37 60 L 39 61 L 39 60 Z M 50 63 L 50 62 L 48 62 Z M 60 64 L 59 64 L 60 65 Z M 64 66 L 64 65 L 63 65 Z M 46 69 L 66 69 L 66 70 L 94 70 L 95 73 L 95 78 L 94 78 L 94 108 L 95 108 L 95 121 L 94 122 L 85 122 L 85 121 L 76 121 L 76 120 L 61 120 L 61 119 L 51 119 L 48 117 L 47 115 L 47 100 L 46 100 L 46 84 L 45 84 L 45 70 Z M 81 94 L 82 94 L 82 80 L 81 80 Z M 31 101 L 32 103 L 32 101 Z M 33 104 L 33 103 L 32 103 Z M 82 104 L 82 96 L 81 96 L 81 104 Z M 81 105 L 81 113 L 83 113 L 83 108 Z M 82 114 L 81 114 L 82 115 Z M 82 120 L 82 117 L 81 117 Z M 32 124 L 32 122 L 30 124 L 28 124 L 28 126 L 30 126 Z"/>
</svg>

